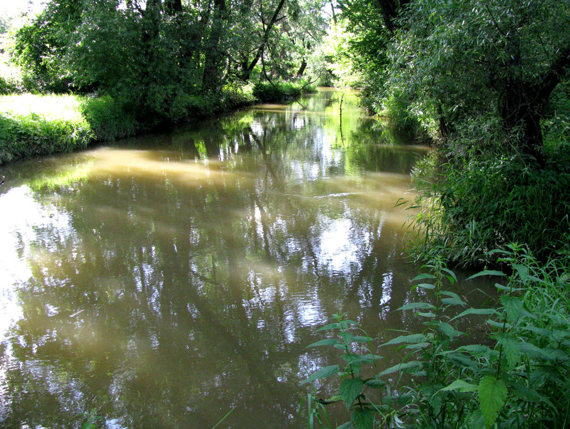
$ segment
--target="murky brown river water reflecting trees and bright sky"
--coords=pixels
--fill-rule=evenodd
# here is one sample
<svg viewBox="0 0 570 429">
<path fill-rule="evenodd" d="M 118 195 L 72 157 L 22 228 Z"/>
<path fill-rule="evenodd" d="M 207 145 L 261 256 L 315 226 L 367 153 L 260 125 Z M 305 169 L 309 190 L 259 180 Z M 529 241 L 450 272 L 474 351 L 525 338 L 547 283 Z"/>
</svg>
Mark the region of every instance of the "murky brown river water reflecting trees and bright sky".
<svg viewBox="0 0 570 429">
<path fill-rule="evenodd" d="M 0 426 L 299 427 L 333 313 L 421 329 L 394 205 L 426 150 L 323 89 L 4 167 Z"/>
</svg>

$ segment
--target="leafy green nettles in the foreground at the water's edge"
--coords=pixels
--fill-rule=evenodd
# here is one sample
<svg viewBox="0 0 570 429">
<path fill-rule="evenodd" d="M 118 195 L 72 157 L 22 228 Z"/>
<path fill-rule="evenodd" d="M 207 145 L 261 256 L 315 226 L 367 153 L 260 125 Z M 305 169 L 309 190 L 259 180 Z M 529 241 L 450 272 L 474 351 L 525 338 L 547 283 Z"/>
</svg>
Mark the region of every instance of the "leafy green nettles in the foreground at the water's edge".
<svg viewBox="0 0 570 429">
<path fill-rule="evenodd" d="M 343 350 L 342 365 L 324 367 L 302 383 L 337 375 L 337 395 L 308 395 L 308 427 L 331 427 L 325 405 L 344 402 L 350 420 L 338 428 L 467 427 L 563 428 L 570 424 L 570 270 L 567 263 L 540 266 L 524 248 L 510 245 L 500 261 L 509 273 L 496 276 L 499 300 L 493 308 L 471 308 L 457 293 L 446 291 L 457 277 L 441 259 L 424 265 L 429 272 L 413 279 L 414 288 L 433 292 L 431 302 L 400 308 L 424 319 L 421 333 L 406 333 L 380 347 L 404 350 L 404 362 L 373 377 L 361 367 L 380 356 L 357 322 L 345 314 L 323 326 L 335 334 L 309 347 L 332 345 Z M 455 314 L 451 316 L 451 314 Z M 483 344 L 459 345 L 462 318 L 488 317 Z M 364 353 L 363 353 L 364 352 Z M 368 372 L 368 371 L 365 371 Z M 393 374 L 397 376 L 394 377 Z M 407 374 L 407 375 L 405 375 Z M 390 376 L 392 379 L 386 378 Z M 375 393 L 374 393 L 375 392 Z"/>
</svg>

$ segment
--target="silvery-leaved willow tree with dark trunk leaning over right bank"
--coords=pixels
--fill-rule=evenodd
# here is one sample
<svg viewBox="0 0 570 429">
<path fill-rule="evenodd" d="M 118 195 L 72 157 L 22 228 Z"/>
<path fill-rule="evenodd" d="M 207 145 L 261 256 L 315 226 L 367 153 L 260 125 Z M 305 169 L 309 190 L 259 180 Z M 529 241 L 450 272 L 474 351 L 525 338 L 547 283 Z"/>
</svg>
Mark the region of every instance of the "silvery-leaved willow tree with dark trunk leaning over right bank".
<svg viewBox="0 0 570 429">
<path fill-rule="evenodd" d="M 539 161 L 540 120 L 570 67 L 570 2 L 415 1 L 390 58 L 392 91 L 451 125 L 496 118 L 512 144 Z"/>
</svg>

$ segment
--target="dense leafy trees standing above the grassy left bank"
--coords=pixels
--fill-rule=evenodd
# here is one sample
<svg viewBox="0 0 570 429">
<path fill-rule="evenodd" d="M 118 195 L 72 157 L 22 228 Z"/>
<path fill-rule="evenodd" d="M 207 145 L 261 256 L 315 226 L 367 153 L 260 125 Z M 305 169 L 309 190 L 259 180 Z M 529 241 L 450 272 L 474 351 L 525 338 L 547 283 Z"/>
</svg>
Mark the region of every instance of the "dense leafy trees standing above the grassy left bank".
<svg viewBox="0 0 570 429">
<path fill-rule="evenodd" d="M 146 124 L 180 121 L 226 107 L 226 85 L 235 93 L 250 80 L 302 78 L 323 35 L 320 8 L 310 0 L 52 0 L 16 32 L 13 55 L 28 88 L 97 92 Z"/>
</svg>

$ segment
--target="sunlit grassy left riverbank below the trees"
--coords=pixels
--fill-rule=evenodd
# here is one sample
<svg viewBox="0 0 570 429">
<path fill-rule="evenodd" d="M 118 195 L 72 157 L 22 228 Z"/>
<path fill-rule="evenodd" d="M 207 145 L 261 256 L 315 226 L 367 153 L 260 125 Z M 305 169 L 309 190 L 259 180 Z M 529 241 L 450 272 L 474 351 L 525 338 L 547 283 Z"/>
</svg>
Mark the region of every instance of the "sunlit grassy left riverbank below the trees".
<svg viewBox="0 0 570 429">
<path fill-rule="evenodd" d="M 34 95 L 0 96 L 0 165 L 55 153 L 87 148 L 94 142 L 144 134 L 173 124 L 212 116 L 264 101 L 285 100 L 314 91 L 311 85 L 225 85 L 216 100 L 193 97 L 178 103 L 169 115 L 149 120 L 139 117 L 111 96 Z"/>
</svg>

